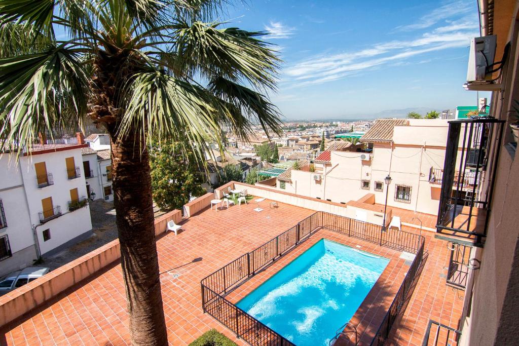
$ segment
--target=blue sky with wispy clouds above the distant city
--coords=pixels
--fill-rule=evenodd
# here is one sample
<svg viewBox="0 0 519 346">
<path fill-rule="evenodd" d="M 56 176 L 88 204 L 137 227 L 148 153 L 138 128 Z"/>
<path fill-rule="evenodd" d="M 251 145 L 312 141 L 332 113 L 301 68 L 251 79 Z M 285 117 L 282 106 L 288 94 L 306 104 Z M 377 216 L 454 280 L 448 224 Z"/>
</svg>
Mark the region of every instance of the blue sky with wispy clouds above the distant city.
<svg viewBox="0 0 519 346">
<path fill-rule="evenodd" d="M 270 33 L 283 59 L 270 96 L 287 119 L 476 104 L 462 88 L 479 36 L 473 0 L 248 0 L 222 20 Z"/>
</svg>

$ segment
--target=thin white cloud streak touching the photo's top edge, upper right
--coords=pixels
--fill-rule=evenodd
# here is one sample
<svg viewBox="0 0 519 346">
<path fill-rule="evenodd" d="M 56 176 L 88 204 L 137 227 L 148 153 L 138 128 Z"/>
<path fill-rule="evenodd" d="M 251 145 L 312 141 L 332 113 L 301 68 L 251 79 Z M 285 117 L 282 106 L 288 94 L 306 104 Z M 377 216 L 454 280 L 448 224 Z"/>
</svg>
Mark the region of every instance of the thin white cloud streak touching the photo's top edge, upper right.
<svg viewBox="0 0 519 346">
<path fill-rule="evenodd" d="M 451 2 L 435 8 L 430 13 L 427 13 L 427 15 L 420 17 L 416 23 L 397 26 L 395 29 L 400 31 L 427 29 L 428 27 L 449 18 L 467 15 L 473 17 L 473 5 L 473 2 L 468 0 Z"/>
</svg>

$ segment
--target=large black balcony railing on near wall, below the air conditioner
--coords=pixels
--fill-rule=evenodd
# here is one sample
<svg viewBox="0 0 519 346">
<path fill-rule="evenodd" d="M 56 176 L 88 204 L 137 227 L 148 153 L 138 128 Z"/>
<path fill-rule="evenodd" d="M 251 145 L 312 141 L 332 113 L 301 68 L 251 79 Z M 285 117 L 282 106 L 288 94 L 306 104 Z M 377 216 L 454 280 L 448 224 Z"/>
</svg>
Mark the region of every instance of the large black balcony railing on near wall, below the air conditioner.
<svg viewBox="0 0 519 346">
<path fill-rule="evenodd" d="M 504 121 L 480 118 L 448 123 L 436 230 L 482 244 Z"/>
</svg>

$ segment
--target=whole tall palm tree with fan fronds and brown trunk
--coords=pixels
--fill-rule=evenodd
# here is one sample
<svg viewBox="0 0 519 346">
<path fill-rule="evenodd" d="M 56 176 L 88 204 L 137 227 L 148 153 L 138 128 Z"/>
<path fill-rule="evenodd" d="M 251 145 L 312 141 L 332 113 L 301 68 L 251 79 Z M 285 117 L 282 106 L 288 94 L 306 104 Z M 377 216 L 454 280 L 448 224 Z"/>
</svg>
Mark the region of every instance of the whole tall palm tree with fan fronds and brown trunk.
<svg viewBox="0 0 519 346">
<path fill-rule="evenodd" d="M 88 119 L 110 134 L 121 267 L 133 344 L 166 344 L 148 151 L 188 139 L 203 157 L 222 128 L 280 133 L 279 60 L 213 22 L 221 0 L 0 0 L 0 149 Z M 187 151 L 186 151 L 187 152 Z"/>
</svg>

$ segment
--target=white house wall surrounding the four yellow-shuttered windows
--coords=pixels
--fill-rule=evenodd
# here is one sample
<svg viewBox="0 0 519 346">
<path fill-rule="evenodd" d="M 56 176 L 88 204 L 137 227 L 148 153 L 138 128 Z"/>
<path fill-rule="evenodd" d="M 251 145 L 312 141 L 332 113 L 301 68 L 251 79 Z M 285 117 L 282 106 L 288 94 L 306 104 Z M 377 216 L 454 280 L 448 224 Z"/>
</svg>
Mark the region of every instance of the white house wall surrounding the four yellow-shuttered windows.
<svg viewBox="0 0 519 346">
<path fill-rule="evenodd" d="M 67 177 L 65 164 L 65 158 L 71 156 L 74 157 L 75 165 L 79 167 L 81 172 L 81 176 L 74 179 Z M 47 173 L 52 173 L 54 184 L 38 188 L 34 164 L 42 161 L 45 161 Z M 61 206 L 62 216 L 37 227 L 36 233 L 42 254 L 92 229 L 88 205 L 72 212 L 69 212 L 68 209 L 68 203 L 71 200 L 71 189 L 77 188 L 79 197 L 86 197 L 87 195 L 83 157 L 81 156 L 80 148 L 23 156 L 20 158 L 20 167 L 29 203 L 31 224 L 40 224 L 38 213 L 43 211 L 42 199 L 52 197 L 53 206 Z M 50 229 L 51 239 L 44 242 L 42 232 L 47 228 Z"/>
</svg>

